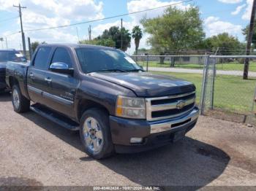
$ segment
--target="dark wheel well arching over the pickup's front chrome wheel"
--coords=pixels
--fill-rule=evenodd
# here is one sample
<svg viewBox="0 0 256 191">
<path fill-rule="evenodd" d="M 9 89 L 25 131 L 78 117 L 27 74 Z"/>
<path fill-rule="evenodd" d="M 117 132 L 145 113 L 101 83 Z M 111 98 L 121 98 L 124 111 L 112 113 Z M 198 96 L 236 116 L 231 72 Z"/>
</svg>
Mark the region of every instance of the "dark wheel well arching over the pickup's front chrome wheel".
<svg viewBox="0 0 256 191">
<path fill-rule="evenodd" d="M 105 111 L 107 114 L 109 114 L 108 109 L 106 109 L 105 106 L 102 106 L 102 104 L 99 104 L 96 101 L 84 99 L 80 101 L 80 103 L 78 104 L 78 120 L 80 120 L 80 118 L 82 117 L 83 113 L 86 112 L 86 110 L 91 108 L 99 108 Z"/>
</svg>

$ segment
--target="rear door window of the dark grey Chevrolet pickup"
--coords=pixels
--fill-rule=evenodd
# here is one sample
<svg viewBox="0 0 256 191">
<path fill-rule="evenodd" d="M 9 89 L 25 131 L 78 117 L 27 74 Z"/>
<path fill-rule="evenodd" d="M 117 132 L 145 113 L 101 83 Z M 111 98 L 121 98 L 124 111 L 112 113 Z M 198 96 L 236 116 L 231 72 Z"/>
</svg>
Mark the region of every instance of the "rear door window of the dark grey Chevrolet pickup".
<svg viewBox="0 0 256 191">
<path fill-rule="evenodd" d="M 37 69 L 47 69 L 50 57 L 51 47 L 39 47 L 36 58 L 34 58 L 34 67 Z"/>
</svg>

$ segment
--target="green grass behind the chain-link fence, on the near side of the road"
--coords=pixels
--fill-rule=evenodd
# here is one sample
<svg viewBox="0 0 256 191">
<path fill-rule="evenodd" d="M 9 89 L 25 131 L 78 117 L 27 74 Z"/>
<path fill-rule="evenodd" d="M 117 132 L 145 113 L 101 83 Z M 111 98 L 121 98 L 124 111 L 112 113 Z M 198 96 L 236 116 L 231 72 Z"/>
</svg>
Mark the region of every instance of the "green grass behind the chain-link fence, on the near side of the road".
<svg viewBox="0 0 256 191">
<path fill-rule="evenodd" d="M 197 87 L 197 103 L 200 101 L 202 74 L 152 72 L 165 74 L 193 82 Z M 217 75 L 214 88 L 214 107 L 230 112 L 250 112 L 255 93 L 256 79 L 244 80 L 241 77 Z M 208 95 L 208 94 L 207 94 Z M 209 98 L 209 96 L 208 96 Z"/>
</svg>

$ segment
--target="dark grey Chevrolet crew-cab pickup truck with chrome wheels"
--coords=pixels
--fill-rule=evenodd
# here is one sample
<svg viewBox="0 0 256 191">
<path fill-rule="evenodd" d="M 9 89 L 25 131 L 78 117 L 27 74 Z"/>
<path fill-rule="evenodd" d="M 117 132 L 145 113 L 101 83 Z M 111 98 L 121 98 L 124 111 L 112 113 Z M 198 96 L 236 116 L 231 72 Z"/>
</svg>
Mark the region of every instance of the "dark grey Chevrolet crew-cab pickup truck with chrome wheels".
<svg viewBox="0 0 256 191">
<path fill-rule="evenodd" d="M 110 47 L 41 44 L 29 64 L 8 63 L 6 75 L 15 112 L 31 109 L 80 130 L 96 159 L 178 141 L 199 114 L 195 85 L 145 72 Z"/>
</svg>

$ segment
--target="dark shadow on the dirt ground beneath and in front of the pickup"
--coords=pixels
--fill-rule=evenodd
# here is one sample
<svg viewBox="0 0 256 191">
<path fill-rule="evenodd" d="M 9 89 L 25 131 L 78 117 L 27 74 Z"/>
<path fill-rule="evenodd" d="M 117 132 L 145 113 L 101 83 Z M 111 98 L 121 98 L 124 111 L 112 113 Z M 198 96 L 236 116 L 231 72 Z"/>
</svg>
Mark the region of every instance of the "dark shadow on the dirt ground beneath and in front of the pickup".
<svg viewBox="0 0 256 191">
<path fill-rule="evenodd" d="M 83 151 L 78 132 L 61 128 L 34 112 L 23 114 L 38 128 L 44 128 L 67 144 Z M 80 158 L 85 162 L 91 157 Z M 182 185 L 203 187 L 217 179 L 227 167 L 230 157 L 217 147 L 186 137 L 176 144 L 129 155 L 114 155 L 98 163 L 137 184 Z M 83 164 L 83 163 L 82 163 Z M 111 179 L 111 177 L 110 177 Z M 104 182 L 102 182 L 104 184 Z"/>
</svg>

